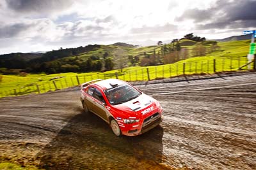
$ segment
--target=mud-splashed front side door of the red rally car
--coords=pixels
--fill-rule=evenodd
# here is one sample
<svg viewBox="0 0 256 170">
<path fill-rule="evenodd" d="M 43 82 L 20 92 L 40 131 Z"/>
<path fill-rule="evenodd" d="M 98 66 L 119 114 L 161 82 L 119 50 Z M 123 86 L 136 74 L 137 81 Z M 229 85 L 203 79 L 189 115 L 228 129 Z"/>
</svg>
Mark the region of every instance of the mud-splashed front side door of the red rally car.
<svg viewBox="0 0 256 170">
<path fill-rule="evenodd" d="M 102 92 L 99 89 L 95 88 L 93 91 L 93 98 L 95 99 L 93 105 L 93 112 L 99 115 L 102 119 L 108 122 L 107 110 L 106 110 L 106 101 L 102 96 Z"/>
</svg>

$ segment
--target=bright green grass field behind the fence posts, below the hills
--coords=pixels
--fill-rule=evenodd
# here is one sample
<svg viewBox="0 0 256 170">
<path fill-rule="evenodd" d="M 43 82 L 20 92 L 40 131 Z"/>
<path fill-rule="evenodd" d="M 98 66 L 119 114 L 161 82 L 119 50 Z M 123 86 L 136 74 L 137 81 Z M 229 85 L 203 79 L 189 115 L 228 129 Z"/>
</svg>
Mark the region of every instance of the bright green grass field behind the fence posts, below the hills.
<svg viewBox="0 0 256 170">
<path fill-rule="evenodd" d="M 249 50 L 249 44 L 250 41 L 248 40 L 219 43 L 221 51 L 208 53 L 204 57 L 191 57 L 161 66 L 126 67 L 122 73 L 119 70 L 112 70 L 104 73 L 28 74 L 25 77 L 3 75 L 0 83 L 0 97 L 38 93 L 38 89 L 40 93 L 65 89 L 99 78 L 116 78 L 116 73 L 119 79 L 125 81 L 147 81 L 147 69 L 150 80 L 170 78 L 184 74 L 184 63 L 185 74 L 212 74 L 214 73 L 214 59 L 216 60 L 216 72 L 237 71 L 240 66 L 247 62 L 246 55 Z M 190 48 L 193 48 L 193 46 L 190 46 Z M 159 49 L 157 46 L 148 46 L 146 48 L 152 51 L 156 48 Z M 133 52 L 131 50 L 131 53 L 143 53 L 143 48 L 135 48 Z M 246 68 L 244 67 L 244 69 Z"/>
</svg>

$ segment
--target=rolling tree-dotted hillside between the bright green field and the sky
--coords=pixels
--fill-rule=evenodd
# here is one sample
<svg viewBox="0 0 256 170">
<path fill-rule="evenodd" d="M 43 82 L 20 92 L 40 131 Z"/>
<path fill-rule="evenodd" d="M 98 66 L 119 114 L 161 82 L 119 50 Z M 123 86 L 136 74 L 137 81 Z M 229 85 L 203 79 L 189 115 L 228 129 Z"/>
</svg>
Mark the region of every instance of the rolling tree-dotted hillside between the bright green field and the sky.
<svg viewBox="0 0 256 170">
<path fill-rule="evenodd" d="M 156 66 L 197 56 L 244 57 L 248 53 L 250 40 L 217 44 L 212 40 L 196 42 L 182 39 L 179 44 L 179 53 L 173 51 L 173 44 L 138 47 L 126 43 L 61 48 L 43 54 L 27 53 L 24 56 L 22 53 L 13 53 L 0 55 L 0 68 L 21 69 L 20 71 L 26 73 L 84 73 L 122 69 L 129 66 Z M 200 49 L 204 53 L 196 52 Z M 10 71 L 5 71 L 3 68 L 0 69 L 1 72 L 10 74 Z"/>
</svg>

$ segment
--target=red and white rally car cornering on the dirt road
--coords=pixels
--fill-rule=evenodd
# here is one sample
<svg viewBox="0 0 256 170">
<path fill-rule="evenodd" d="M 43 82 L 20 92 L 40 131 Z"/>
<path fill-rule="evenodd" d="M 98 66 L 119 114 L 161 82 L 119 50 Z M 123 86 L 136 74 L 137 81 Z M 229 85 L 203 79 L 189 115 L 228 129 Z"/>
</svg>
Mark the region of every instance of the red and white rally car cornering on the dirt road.
<svg viewBox="0 0 256 170">
<path fill-rule="evenodd" d="M 102 118 L 116 136 L 142 134 L 163 120 L 163 109 L 156 99 L 122 80 L 83 83 L 81 102 L 85 112 L 91 111 Z"/>
</svg>

